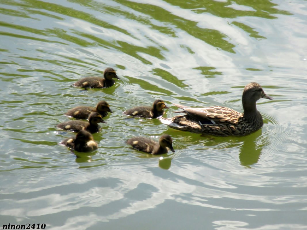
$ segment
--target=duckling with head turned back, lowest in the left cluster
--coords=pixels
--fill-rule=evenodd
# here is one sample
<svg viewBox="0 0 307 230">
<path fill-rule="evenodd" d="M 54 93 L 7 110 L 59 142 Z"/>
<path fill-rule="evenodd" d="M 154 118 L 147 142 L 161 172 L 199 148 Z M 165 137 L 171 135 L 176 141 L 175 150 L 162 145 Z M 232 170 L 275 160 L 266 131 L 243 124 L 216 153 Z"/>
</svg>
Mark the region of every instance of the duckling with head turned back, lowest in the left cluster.
<svg viewBox="0 0 307 230">
<path fill-rule="evenodd" d="M 80 130 L 75 137 L 66 138 L 59 144 L 78 152 L 91 152 L 98 149 L 98 145 L 94 141 L 92 134 L 85 130 Z"/>
</svg>

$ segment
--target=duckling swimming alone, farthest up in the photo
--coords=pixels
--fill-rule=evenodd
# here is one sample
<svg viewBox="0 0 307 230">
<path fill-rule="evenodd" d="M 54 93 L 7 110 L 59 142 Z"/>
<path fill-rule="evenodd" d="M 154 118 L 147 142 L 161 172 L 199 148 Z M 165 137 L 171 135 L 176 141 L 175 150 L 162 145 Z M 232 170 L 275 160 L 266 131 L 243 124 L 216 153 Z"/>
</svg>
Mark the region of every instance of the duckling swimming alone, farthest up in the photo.
<svg viewBox="0 0 307 230">
<path fill-rule="evenodd" d="M 84 89 L 93 88 L 108 88 L 115 84 L 113 78 L 120 79 L 116 75 L 116 71 L 113 68 L 107 68 L 103 72 L 103 77 L 85 77 L 74 83 L 72 86 L 81 87 Z"/>
</svg>

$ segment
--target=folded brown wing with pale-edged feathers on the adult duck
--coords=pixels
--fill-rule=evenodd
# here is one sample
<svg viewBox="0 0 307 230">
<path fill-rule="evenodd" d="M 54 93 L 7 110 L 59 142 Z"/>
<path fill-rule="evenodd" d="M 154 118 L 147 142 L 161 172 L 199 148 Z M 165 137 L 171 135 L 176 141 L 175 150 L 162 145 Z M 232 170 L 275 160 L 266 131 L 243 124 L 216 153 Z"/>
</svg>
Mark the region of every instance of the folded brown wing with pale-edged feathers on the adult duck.
<svg viewBox="0 0 307 230">
<path fill-rule="evenodd" d="M 199 121 L 200 123 L 212 124 L 236 124 L 238 123 L 241 113 L 223 106 L 210 106 L 203 108 L 192 108 L 180 104 L 174 104 L 175 106 L 183 109 L 192 119 Z"/>
</svg>

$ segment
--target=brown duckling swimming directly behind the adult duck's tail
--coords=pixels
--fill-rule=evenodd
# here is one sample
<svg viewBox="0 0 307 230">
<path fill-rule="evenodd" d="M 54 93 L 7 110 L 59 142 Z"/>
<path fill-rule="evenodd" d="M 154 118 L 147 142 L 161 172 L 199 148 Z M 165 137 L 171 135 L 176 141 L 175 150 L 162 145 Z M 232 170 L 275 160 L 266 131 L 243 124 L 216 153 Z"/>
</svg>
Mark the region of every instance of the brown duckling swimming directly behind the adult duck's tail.
<svg viewBox="0 0 307 230">
<path fill-rule="evenodd" d="M 165 105 L 163 100 L 155 100 L 153 102 L 153 106 L 138 106 L 131 108 L 125 112 L 125 115 L 130 115 L 133 117 L 144 117 L 144 118 L 159 118 L 162 117 L 165 111 L 163 109 L 169 109 L 168 106 Z"/>
</svg>

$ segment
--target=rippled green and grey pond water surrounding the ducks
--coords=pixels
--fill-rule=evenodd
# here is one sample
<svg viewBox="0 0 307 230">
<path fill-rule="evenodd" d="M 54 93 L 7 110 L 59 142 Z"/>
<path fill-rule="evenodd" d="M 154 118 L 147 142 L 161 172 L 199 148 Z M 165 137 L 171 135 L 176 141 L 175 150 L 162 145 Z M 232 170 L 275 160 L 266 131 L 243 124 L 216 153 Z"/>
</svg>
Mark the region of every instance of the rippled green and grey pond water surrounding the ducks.
<svg viewBox="0 0 307 230">
<path fill-rule="evenodd" d="M 307 1 L 0 0 L 0 224 L 45 229 L 306 229 Z M 113 67 L 108 89 L 70 85 Z M 256 81 L 262 130 L 201 136 L 122 111 L 156 99 L 242 111 Z M 109 102 L 99 149 L 56 130 Z M 130 149 L 173 138 L 175 153 Z"/>
</svg>

